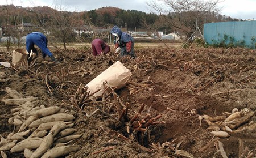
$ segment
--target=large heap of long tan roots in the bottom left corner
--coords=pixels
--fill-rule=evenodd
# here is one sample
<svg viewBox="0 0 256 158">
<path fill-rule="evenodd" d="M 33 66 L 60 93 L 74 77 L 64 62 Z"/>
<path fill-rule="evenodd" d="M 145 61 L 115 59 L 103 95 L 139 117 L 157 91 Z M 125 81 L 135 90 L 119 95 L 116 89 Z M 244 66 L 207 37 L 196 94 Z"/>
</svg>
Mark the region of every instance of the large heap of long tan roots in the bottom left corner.
<svg viewBox="0 0 256 158">
<path fill-rule="evenodd" d="M 9 123 L 19 127 L 17 133 L 10 133 L 7 138 L 1 136 L 0 151 L 2 157 L 7 157 L 3 151 L 23 152 L 24 157 L 60 157 L 72 151 L 79 150 L 77 145 L 67 145 L 82 134 L 73 135 L 72 114 L 57 106 L 46 108 L 36 106 L 36 97 L 24 96 L 16 90 L 6 87 L 8 96 L 2 99 L 6 105 L 18 106 L 11 110 L 13 117 Z"/>
</svg>

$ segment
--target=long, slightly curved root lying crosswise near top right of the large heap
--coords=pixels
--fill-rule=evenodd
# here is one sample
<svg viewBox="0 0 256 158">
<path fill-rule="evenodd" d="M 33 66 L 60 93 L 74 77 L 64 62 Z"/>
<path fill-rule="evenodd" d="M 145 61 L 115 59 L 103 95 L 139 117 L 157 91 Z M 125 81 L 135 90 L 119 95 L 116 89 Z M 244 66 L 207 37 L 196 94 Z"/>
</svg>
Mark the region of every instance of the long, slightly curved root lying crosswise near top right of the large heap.
<svg viewBox="0 0 256 158">
<path fill-rule="evenodd" d="M 72 114 L 57 113 L 37 119 L 33 121 L 28 127 L 38 127 L 41 123 L 53 121 L 73 121 L 73 119 L 75 119 L 75 117 Z"/>
</svg>

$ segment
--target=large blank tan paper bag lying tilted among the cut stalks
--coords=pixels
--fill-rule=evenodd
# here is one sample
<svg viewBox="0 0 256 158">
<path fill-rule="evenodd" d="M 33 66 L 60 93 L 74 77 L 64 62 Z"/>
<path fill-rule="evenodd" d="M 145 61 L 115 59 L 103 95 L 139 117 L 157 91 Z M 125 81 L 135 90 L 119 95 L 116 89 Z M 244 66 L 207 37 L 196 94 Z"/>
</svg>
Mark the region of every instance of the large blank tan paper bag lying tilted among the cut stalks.
<svg viewBox="0 0 256 158">
<path fill-rule="evenodd" d="M 121 62 L 117 61 L 108 69 L 101 72 L 100 75 L 91 80 L 88 84 L 86 84 L 85 87 L 88 87 L 87 91 L 90 93 L 94 93 L 100 89 L 100 91 L 94 93 L 93 95 L 94 97 L 98 98 L 102 96 L 104 89 L 108 87 L 108 85 L 104 86 L 104 82 L 108 82 L 110 87 L 116 87 L 116 90 L 118 90 L 126 85 L 131 75 L 131 71 L 123 66 Z"/>
</svg>

